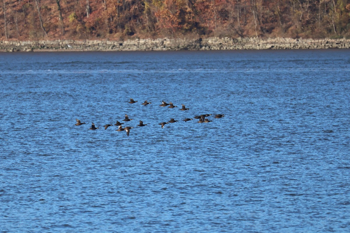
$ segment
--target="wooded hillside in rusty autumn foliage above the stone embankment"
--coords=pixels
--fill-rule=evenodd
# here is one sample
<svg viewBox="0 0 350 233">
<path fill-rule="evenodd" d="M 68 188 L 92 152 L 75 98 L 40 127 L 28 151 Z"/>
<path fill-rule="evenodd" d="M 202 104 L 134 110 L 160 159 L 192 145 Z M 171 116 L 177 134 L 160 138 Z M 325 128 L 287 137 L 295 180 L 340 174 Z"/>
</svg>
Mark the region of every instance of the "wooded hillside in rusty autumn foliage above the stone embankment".
<svg viewBox="0 0 350 233">
<path fill-rule="evenodd" d="M 350 0 L 1 0 L 1 40 L 350 37 Z"/>
</svg>

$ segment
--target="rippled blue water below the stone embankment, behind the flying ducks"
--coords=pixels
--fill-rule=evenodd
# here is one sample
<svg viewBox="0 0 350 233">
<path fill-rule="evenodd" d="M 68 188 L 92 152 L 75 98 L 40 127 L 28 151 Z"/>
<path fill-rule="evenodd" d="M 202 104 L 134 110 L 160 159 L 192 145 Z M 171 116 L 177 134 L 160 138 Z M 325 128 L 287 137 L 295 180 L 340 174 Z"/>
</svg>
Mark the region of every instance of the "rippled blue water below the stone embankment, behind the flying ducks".
<svg viewBox="0 0 350 233">
<path fill-rule="evenodd" d="M 0 53 L 0 232 L 349 232 L 349 93 L 349 50 Z"/>
</svg>

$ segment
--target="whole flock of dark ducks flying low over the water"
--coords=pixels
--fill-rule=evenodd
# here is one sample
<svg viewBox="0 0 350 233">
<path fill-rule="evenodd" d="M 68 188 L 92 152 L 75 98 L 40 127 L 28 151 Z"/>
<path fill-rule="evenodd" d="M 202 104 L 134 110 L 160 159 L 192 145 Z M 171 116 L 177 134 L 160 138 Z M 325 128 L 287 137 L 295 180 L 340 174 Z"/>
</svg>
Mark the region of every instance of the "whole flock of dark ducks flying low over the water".
<svg viewBox="0 0 350 233">
<path fill-rule="evenodd" d="M 134 101 L 133 99 L 130 99 L 130 102 L 128 102 L 128 103 L 136 103 L 136 102 L 137 102 L 137 101 Z M 145 102 L 144 102 L 144 103 L 141 103 L 141 104 L 145 106 L 145 105 L 147 105 L 147 104 L 150 104 L 150 102 L 147 102 L 147 100 L 145 100 Z M 170 105 L 170 106 L 168 106 L 168 105 Z M 161 106 L 161 107 L 166 107 L 166 106 L 168 106 L 168 108 L 176 108 L 176 107 L 177 107 L 177 106 L 175 106 L 172 102 L 166 103 L 165 101 L 162 101 L 162 104 L 160 104 L 159 106 Z M 182 108 L 181 108 L 180 110 L 181 110 L 181 111 L 185 111 L 185 110 L 188 110 L 188 108 L 186 108 L 185 105 L 182 104 Z M 208 117 L 208 116 L 211 116 L 211 114 L 203 114 L 203 115 L 200 115 L 200 116 L 195 116 L 194 118 L 195 118 L 195 119 L 199 119 L 199 121 L 197 121 L 197 123 L 208 123 L 208 122 L 212 122 L 212 121 L 209 121 L 209 119 L 206 119 L 206 118 L 205 118 L 205 117 Z M 222 118 L 222 117 L 224 117 L 224 114 L 217 114 L 217 115 L 214 116 L 214 118 Z M 78 119 L 75 119 L 75 120 L 77 121 L 77 123 L 76 123 L 75 125 L 83 125 L 83 124 L 85 124 L 85 122 L 82 123 L 82 122 L 80 122 L 80 120 L 78 120 Z M 193 120 L 193 119 L 192 119 L 192 118 L 183 119 L 184 122 L 187 122 L 187 121 L 190 121 L 190 120 Z M 125 119 L 124 119 L 123 121 L 128 122 L 128 121 L 132 121 L 132 119 L 129 119 L 129 116 L 125 114 Z M 162 129 L 163 129 L 165 124 L 174 123 L 174 122 L 177 122 L 177 121 L 175 121 L 174 118 L 171 118 L 170 121 L 168 121 L 168 122 L 161 122 L 161 123 L 159 123 L 159 125 L 161 125 L 161 126 L 162 126 Z M 119 132 L 120 132 L 120 131 L 126 131 L 126 135 L 129 136 L 130 129 L 133 129 L 134 127 L 129 127 L 129 126 L 127 126 L 127 127 L 123 128 L 123 126 L 122 126 L 123 124 L 124 124 L 124 123 L 120 123 L 119 121 L 117 121 L 117 123 L 114 124 L 114 125 L 119 126 L 119 128 L 117 129 L 117 131 L 119 131 Z M 147 125 L 147 124 L 144 124 L 142 121 L 140 121 L 140 124 L 138 124 L 137 126 L 145 126 L 145 125 Z M 106 130 L 109 126 L 112 126 L 112 125 L 110 125 L 110 124 L 104 125 L 105 130 Z M 95 124 L 92 123 L 92 124 L 91 124 L 91 128 L 90 128 L 89 130 L 97 130 L 97 129 L 98 129 L 98 127 L 95 127 Z"/>
</svg>

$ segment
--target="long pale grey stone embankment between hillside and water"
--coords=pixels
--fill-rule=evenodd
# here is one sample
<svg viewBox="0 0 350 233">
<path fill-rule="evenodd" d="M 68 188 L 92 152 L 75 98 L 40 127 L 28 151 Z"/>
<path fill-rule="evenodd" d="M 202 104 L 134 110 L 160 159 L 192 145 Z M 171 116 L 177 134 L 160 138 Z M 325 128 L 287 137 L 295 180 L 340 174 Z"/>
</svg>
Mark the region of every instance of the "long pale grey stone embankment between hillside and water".
<svg viewBox="0 0 350 233">
<path fill-rule="evenodd" d="M 0 51 L 165 51 L 165 50 L 247 50 L 247 49 L 329 49 L 350 48 L 350 39 L 292 38 L 201 38 L 0 41 Z"/>
</svg>

